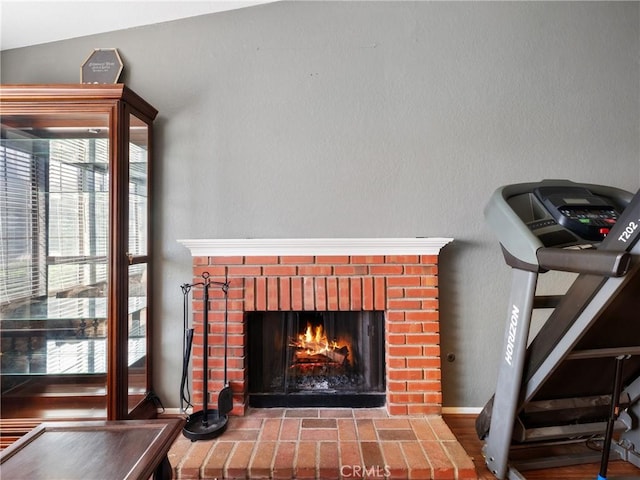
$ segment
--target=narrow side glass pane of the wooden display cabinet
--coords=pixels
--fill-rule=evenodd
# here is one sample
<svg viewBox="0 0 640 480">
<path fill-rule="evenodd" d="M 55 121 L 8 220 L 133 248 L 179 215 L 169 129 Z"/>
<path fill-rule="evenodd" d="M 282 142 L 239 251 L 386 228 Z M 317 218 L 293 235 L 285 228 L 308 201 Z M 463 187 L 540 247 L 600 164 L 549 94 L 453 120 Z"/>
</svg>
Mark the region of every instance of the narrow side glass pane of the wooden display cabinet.
<svg viewBox="0 0 640 480">
<path fill-rule="evenodd" d="M 128 412 L 148 391 L 149 126 L 129 116 Z"/>
</svg>

